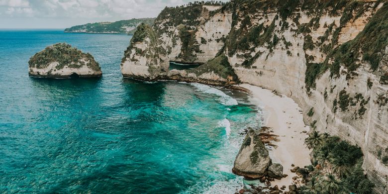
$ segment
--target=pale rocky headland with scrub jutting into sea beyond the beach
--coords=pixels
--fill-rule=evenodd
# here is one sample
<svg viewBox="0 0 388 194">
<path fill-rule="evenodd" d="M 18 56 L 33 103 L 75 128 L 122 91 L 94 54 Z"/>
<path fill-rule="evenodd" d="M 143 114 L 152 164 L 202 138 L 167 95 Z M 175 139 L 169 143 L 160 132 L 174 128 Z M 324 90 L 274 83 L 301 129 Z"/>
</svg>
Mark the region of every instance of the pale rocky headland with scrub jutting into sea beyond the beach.
<svg viewBox="0 0 388 194">
<path fill-rule="evenodd" d="M 235 84 L 237 76 L 228 57 L 222 53 L 214 57 L 231 26 L 231 13 L 216 13 L 220 8 L 218 3 L 166 7 L 152 27 L 138 26 L 121 63 L 123 76 L 140 80 Z M 193 70 L 169 70 L 171 61 L 203 65 Z"/>
</svg>

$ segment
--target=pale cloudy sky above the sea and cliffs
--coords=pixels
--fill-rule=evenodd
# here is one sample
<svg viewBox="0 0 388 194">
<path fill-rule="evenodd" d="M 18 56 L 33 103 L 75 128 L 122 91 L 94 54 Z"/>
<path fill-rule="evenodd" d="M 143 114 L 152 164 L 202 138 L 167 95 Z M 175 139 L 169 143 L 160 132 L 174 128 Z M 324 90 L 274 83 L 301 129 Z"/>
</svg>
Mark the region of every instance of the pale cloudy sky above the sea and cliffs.
<svg viewBox="0 0 388 194">
<path fill-rule="evenodd" d="M 99 21 L 156 17 L 194 0 L 0 0 L 0 28 L 67 28 Z M 226 1 L 226 0 L 223 0 Z"/>
</svg>

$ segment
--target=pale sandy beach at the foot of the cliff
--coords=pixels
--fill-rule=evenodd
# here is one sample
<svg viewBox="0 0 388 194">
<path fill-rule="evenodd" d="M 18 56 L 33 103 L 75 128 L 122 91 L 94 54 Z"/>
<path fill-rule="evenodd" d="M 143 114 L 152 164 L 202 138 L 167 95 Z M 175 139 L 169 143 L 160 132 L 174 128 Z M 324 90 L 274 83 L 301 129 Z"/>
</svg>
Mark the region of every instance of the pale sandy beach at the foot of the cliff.
<svg viewBox="0 0 388 194">
<path fill-rule="evenodd" d="M 273 163 L 280 163 L 283 166 L 283 174 L 288 177 L 282 180 L 275 180 L 271 187 L 278 185 L 279 188 L 292 184 L 292 177 L 297 176 L 291 173 L 291 164 L 303 168 L 310 165 L 310 151 L 303 145 L 304 139 L 308 136 L 302 131 L 309 131 L 305 126 L 300 107 L 289 97 L 279 97 L 267 89 L 249 84 L 242 84 L 239 87 L 252 92 L 252 102 L 263 109 L 263 126 L 271 127 L 273 134 L 279 135 L 279 142 L 274 142 L 278 147 L 269 150 Z"/>
</svg>

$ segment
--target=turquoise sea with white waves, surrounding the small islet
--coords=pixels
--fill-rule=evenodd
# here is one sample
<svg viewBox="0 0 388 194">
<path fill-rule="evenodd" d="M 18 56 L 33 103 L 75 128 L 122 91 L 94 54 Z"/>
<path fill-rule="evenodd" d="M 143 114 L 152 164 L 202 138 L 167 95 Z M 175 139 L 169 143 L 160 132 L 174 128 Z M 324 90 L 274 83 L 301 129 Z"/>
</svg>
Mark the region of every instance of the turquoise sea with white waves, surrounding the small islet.
<svg viewBox="0 0 388 194">
<path fill-rule="evenodd" d="M 0 193 L 233 193 L 257 108 L 238 92 L 123 79 L 131 36 L 0 31 Z M 56 42 L 90 52 L 101 79 L 28 77 Z"/>
</svg>

